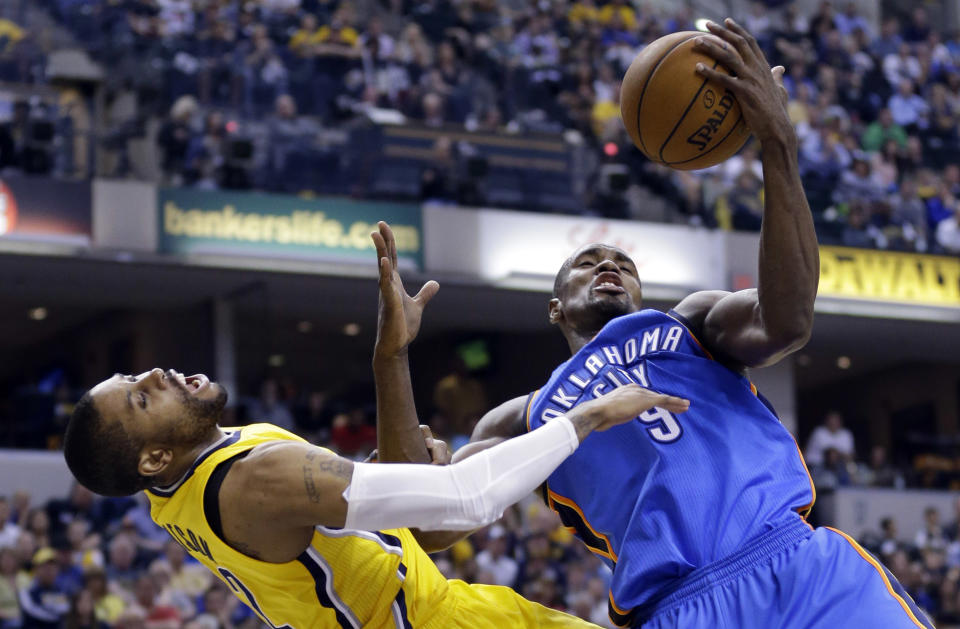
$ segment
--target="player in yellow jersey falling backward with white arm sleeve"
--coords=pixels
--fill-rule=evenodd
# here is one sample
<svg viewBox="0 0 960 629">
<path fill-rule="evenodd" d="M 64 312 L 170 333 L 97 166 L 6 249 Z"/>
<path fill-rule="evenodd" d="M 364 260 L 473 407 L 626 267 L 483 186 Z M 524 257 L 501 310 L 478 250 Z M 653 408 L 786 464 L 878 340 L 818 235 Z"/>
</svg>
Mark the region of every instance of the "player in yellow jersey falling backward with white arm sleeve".
<svg viewBox="0 0 960 629">
<path fill-rule="evenodd" d="M 431 283 L 406 295 L 377 240 L 381 460 L 424 460 L 406 347 Z M 407 528 L 469 530 L 539 485 L 593 430 L 685 400 L 624 387 L 454 465 L 353 463 L 269 424 L 220 428 L 226 391 L 160 369 L 113 377 L 77 403 L 64 456 L 103 495 L 146 491 L 153 519 L 271 627 L 593 627 L 509 588 L 446 580 Z M 398 408 L 384 408 L 396 403 Z M 384 420 L 388 421 L 384 421 Z M 412 423 L 406 421 L 412 420 Z M 417 448 L 423 452 L 416 452 Z M 530 453 L 536 453 L 531 457 Z M 422 534 L 430 543 L 429 534 Z"/>
</svg>

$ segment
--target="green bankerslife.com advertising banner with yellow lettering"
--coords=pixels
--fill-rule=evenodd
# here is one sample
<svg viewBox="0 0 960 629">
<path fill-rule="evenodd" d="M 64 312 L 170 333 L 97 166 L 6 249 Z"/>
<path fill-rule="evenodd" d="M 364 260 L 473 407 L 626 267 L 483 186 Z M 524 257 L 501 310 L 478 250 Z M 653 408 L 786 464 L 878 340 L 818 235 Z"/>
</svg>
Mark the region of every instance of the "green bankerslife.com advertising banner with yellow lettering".
<svg viewBox="0 0 960 629">
<path fill-rule="evenodd" d="M 370 261 L 370 232 L 390 223 L 401 261 L 422 266 L 420 206 L 342 198 L 160 188 L 162 253 Z"/>
</svg>

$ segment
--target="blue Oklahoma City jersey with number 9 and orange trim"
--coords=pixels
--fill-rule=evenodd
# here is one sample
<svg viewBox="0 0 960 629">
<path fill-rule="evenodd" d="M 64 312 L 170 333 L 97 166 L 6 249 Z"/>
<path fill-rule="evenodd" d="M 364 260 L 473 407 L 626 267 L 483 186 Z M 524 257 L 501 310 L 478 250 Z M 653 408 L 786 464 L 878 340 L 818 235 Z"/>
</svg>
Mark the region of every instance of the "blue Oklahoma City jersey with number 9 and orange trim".
<svg viewBox="0 0 960 629">
<path fill-rule="evenodd" d="M 610 321 L 558 367 L 530 402 L 528 429 L 631 382 L 690 409 L 654 408 L 591 434 L 546 483 L 564 524 L 613 569 L 620 623 L 814 500 L 796 441 L 751 383 L 655 310 Z"/>
</svg>

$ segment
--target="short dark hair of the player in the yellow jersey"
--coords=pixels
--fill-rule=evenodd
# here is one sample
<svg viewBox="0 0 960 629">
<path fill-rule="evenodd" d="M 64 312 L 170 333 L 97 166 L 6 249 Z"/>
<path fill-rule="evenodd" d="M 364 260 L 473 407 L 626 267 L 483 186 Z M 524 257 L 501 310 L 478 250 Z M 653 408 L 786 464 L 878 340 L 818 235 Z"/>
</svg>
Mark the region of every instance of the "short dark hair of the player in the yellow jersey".
<svg viewBox="0 0 960 629">
<path fill-rule="evenodd" d="M 108 422 L 90 393 L 73 408 L 63 437 L 63 458 L 81 485 L 101 496 L 129 496 L 151 485 L 138 471 L 142 443 L 120 422 Z"/>
</svg>

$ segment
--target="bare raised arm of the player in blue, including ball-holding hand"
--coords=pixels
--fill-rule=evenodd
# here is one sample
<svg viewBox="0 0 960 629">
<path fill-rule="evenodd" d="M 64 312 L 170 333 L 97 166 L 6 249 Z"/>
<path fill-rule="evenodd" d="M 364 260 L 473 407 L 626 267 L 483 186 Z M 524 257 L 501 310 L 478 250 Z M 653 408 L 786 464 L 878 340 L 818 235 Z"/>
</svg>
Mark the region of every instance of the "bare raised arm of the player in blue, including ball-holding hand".
<svg viewBox="0 0 960 629">
<path fill-rule="evenodd" d="M 769 365 L 802 347 L 813 325 L 820 258 L 813 218 L 797 164 L 797 136 L 786 111 L 782 66 L 770 69 L 756 40 L 733 20 L 709 23 L 723 46 L 706 39 L 697 49 L 735 76 L 706 66 L 703 76 L 728 87 L 760 143 L 764 214 L 758 288 L 717 298 L 693 295 L 676 308 L 703 321 L 703 341 L 714 352 L 749 367 Z M 707 310 L 704 310 L 707 308 Z"/>
</svg>

